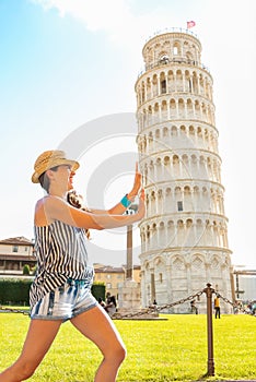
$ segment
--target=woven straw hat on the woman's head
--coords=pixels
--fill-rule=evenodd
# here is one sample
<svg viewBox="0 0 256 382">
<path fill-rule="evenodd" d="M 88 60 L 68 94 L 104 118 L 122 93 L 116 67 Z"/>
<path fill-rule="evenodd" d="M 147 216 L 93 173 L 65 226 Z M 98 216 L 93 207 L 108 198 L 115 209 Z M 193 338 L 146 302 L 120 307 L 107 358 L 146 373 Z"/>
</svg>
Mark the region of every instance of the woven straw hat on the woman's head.
<svg viewBox="0 0 256 382">
<path fill-rule="evenodd" d="M 72 167 L 73 171 L 79 168 L 79 163 L 67 159 L 65 152 L 60 150 L 50 150 L 40 154 L 34 165 L 35 172 L 31 178 L 33 183 L 38 183 L 39 176 L 46 170 L 60 165 L 69 165 Z"/>
</svg>

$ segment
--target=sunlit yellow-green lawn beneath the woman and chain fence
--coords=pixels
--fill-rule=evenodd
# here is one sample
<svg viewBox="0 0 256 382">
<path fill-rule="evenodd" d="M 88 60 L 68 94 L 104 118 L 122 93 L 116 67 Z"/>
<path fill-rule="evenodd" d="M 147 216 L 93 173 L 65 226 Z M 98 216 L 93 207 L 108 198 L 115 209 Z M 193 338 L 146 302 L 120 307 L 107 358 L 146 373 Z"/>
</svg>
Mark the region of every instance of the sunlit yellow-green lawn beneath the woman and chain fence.
<svg viewBox="0 0 256 382">
<path fill-rule="evenodd" d="M 207 372 L 206 315 L 162 315 L 167 321 L 115 321 L 128 350 L 118 382 L 224 381 L 256 379 L 256 319 L 213 319 L 216 377 Z M 0 314 L 0 370 L 20 354 L 30 319 Z M 96 327 L 95 327 L 96 330 Z M 44 335 L 44 334 L 43 334 Z M 92 382 L 101 361 L 94 344 L 65 323 L 30 381 Z"/>
</svg>

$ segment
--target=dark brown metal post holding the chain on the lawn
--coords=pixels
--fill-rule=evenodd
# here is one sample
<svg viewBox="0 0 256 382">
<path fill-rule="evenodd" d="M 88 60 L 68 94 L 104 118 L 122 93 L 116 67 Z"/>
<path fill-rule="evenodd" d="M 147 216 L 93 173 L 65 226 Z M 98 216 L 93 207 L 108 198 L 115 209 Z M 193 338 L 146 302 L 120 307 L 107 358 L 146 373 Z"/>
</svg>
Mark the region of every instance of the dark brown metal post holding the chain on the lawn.
<svg viewBox="0 0 256 382">
<path fill-rule="evenodd" d="M 214 289 L 211 288 L 211 284 L 207 284 L 207 288 L 203 289 L 207 296 L 207 341 L 208 341 L 208 368 L 207 375 L 214 375 L 214 358 L 213 358 L 213 332 L 212 332 L 212 294 Z"/>
</svg>

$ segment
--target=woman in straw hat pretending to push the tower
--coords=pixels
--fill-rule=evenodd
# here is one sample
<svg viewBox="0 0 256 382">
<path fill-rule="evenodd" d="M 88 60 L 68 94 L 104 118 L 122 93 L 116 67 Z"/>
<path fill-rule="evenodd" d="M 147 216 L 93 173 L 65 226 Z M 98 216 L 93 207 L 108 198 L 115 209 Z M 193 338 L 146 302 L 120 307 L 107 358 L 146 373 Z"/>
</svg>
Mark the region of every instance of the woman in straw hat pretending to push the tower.
<svg viewBox="0 0 256 382">
<path fill-rule="evenodd" d="M 37 273 L 31 287 L 31 323 L 18 360 L 2 373 L 1 382 L 20 382 L 33 375 L 62 322 L 71 323 L 102 351 L 95 382 L 116 381 L 126 350 L 112 320 L 91 295 L 93 268 L 88 261 L 85 230 L 130 225 L 144 215 L 144 193 L 138 213 L 123 215 L 141 187 L 136 170 L 130 193 L 108 211 L 77 208 L 67 202 L 75 160 L 61 151 L 47 151 L 34 166 L 32 181 L 47 194 L 35 206 Z"/>
</svg>

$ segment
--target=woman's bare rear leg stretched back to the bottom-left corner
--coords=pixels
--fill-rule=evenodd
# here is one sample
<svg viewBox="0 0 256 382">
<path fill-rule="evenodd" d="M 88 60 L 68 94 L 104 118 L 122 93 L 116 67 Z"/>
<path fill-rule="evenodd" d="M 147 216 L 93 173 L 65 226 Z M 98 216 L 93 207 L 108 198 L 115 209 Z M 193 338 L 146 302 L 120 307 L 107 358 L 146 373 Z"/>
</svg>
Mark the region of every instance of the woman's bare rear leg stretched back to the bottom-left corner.
<svg viewBox="0 0 256 382">
<path fill-rule="evenodd" d="M 0 382 L 21 382 L 33 375 L 53 344 L 61 322 L 31 320 L 21 356 L 0 373 Z"/>
</svg>

